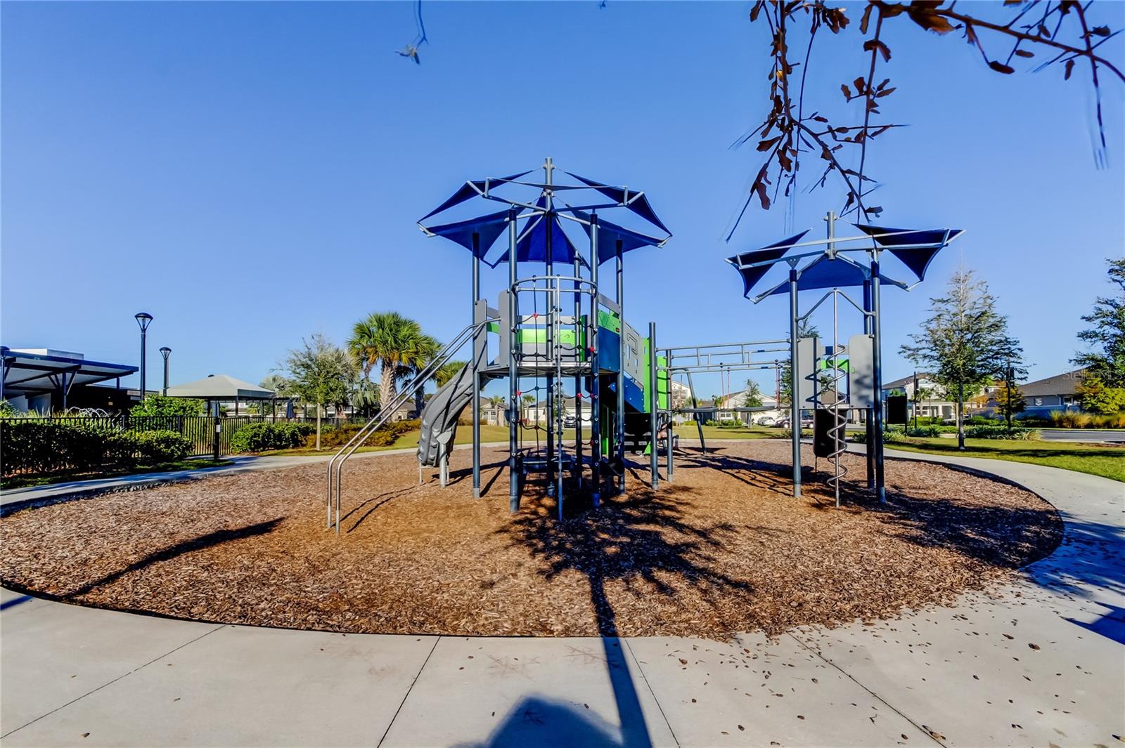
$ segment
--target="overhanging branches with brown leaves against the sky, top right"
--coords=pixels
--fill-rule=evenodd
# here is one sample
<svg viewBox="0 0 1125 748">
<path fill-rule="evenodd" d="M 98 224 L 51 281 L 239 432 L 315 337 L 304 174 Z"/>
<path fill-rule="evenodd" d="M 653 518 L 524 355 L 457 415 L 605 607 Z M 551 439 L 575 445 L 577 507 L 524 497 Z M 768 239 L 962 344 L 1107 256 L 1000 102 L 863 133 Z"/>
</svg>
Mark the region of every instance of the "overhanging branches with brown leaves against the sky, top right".
<svg viewBox="0 0 1125 748">
<path fill-rule="evenodd" d="M 1076 0 L 1006 0 L 1002 6 L 973 3 L 972 13 L 969 13 L 957 8 L 956 0 L 868 0 L 858 24 L 862 49 L 868 53 L 866 70 L 840 84 L 845 102 L 858 99 L 864 103 L 862 124 L 852 124 L 832 121 L 822 113 L 829 107 L 827 101 L 804 113 L 806 84 L 817 36 L 824 29 L 836 35 L 846 33 L 850 25 L 847 11 L 842 7 L 831 7 L 826 0 L 756 0 L 750 7 L 750 21 L 765 24 L 770 30 L 770 108 L 763 121 L 740 137 L 735 146 L 756 142 L 757 150 L 766 156 L 727 238 L 734 235 L 755 199 L 764 210 L 768 210 L 782 190 L 785 197 L 794 194 L 802 153 L 817 154 L 824 167 L 809 189 L 825 186 L 834 174 L 843 185 L 846 197 L 840 215 L 854 212 L 860 219 L 868 219 L 882 212 L 882 207 L 868 204 L 866 200 L 879 186 L 878 181 L 866 173 L 867 146 L 886 131 L 902 127 L 901 124 L 873 122 L 882 115 L 880 106 L 883 100 L 898 88 L 891 85 L 891 79 L 885 75 L 879 83 L 875 82 L 880 77 L 879 66 L 891 62 L 888 21 L 894 19 L 908 19 L 938 36 L 960 30 L 990 70 L 1006 75 L 1016 72 L 1012 63 L 1017 58 L 1033 60 L 1037 55 L 1043 55 L 1044 62 L 1035 67 L 1036 71 L 1061 65 L 1064 80 L 1071 77 L 1077 63 L 1087 64 L 1099 135 L 1096 158 L 1100 163 L 1106 149 L 1101 72 L 1122 82 L 1125 82 L 1125 74 L 1098 53 L 1098 48 L 1120 29 L 1112 30 L 1107 25 L 1091 22 L 1091 6 L 1092 2 L 1083 4 Z M 1006 20 L 988 17 L 994 12 L 1012 16 Z M 807 38 L 803 62 L 793 61 L 790 38 L 802 33 Z M 1008 46 L 1002 62 L 989 52 L 988 47 L 997 45 Z M 795 76 L 798 67 L 801 69 L 799 77 Z M 844 165 L 840 152 L 845 149 L 855 153 L 857 168 Z"/>
</svg>

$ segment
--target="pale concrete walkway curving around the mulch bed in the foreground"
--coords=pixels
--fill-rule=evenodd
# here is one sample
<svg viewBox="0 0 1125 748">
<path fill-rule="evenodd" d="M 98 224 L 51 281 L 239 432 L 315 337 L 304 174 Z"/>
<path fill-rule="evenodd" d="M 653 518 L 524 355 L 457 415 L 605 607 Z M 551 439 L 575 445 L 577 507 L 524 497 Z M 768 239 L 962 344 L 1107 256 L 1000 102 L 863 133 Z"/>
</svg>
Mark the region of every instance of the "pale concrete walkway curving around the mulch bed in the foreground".
<svg viewBox="0 0 1125 748">
<path fill-rule="evenodd" d="M 1038 465 L 934 459 L 1047 498 L 1066 522 L 1060 549 L 999 594 L 872 626 L 729 642 L 287 631 L 3 591 L 0 742 L 1117 745 L 1120 484 Z"/>
</svg>

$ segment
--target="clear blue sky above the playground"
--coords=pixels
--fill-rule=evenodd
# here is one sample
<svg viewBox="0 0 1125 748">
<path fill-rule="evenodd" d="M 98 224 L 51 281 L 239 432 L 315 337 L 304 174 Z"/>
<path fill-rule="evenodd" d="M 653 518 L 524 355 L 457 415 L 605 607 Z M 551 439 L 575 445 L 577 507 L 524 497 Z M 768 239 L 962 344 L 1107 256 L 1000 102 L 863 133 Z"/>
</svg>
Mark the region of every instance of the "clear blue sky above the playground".
<svg viewBox="0 0 1125 748">
<path fill-rule="evenodd" d="M 842 192 L 801 194 L 792 219 L 755 210 L 723 241 L 759 163 L 728 146 L 766 103 L 766 29 L 748 4 L 426 2 L 416 66 L 393 53 L 414 35 L 410 3 L 6 2 L 3 344 L 135 363 L 146 310 L 150 371 L 168 345 L 174 382 L 258 381 L 303 336 L 342 343 L 374 310 L 448 339 L 468 321 L 468 254 L 414 221 L 467 177 L 548 155 L 646 190 L 675 234 L 628 257 L 634 326 L 655 320 L 660 344 L 782 337 L 785 302 L 742 300 L 721 261 L 790 220 L 820 234 Z M 1125 4 L 1099 4 L 1125 22 Z M 856 47 L 848 34 L 813 61 L 837 112 Z M 926 284 L 885 294 L 886 378 L 911 371 L 898 345 L 962 257 L 1032 376 L 1065 370 L 1125 243 L 1122 85 L 1104 86 L 1098 170 L 1080 70 L 998 75 L 908 21 L 891 47 L 899 90 L 883 109 L 910 127 L 868 157 L 882 222 L 968 232 Z M 1104 48 L 1122 60 L 1117 39 Z"/>
</svg>

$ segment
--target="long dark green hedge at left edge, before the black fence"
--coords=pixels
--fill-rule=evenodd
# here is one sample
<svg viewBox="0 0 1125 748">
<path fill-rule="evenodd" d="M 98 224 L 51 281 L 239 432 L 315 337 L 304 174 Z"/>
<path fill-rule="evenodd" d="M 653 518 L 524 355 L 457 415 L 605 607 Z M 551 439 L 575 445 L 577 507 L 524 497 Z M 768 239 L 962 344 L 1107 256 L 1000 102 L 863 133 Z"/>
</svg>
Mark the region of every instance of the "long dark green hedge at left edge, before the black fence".
<svg viewBox="0 0 1125 748">
<path fill-rule="evenodd" d="M 3 474 L 132 468 L 183 459 L 191 441 L 176 431 L 126 431 L 108 426 L 15 420 L 2 425 Z"/>
</svg>

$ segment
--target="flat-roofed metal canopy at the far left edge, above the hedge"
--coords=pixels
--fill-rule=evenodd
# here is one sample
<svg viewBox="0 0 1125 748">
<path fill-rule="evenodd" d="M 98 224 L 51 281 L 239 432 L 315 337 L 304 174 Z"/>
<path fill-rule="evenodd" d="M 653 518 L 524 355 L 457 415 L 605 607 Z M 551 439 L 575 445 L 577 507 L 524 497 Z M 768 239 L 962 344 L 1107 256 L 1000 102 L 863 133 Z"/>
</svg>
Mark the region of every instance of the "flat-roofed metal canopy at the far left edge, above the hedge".
<svg viewBox="0 0 1125 748">
<path fill-rule="evenodd" d="M 14 350 L 7 347 L 0 347 L 0 357 L 3 361 L 0 399 L 58 392 L 64 410 L 66 396 L 74 385 L 86 386 L 118 380 L 137 371 L 136 366 L 125 364 L 108 364 L 37 350 Z"/>
</svg>

